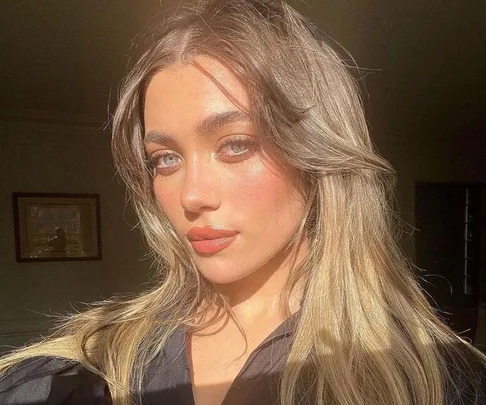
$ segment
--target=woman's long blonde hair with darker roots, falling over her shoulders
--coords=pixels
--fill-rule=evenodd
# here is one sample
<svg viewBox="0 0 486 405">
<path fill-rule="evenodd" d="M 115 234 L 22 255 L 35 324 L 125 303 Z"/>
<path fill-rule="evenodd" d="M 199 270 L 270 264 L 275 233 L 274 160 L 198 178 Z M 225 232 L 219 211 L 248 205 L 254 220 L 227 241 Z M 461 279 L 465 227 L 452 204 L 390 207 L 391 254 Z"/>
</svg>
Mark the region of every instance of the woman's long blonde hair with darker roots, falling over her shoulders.
<svg viewBox="0 0 486 405">
<path fill-rule="evenodd" d="M 458 378 L 474 395 L 467 359 L 484 356 L 440 322 L 401 255 L 393 170 L 373 150 L 353 77 L 318 31 L 282 1 L 212 0 L 148 38 L 123 85 L 113 153 L 159 266 L 155 287 L 71 316 L 49 339 L 0 360 L 0 371 L 38 355 L 73 359 L 107 381 L 115 405 L 128 405 L 172 332 L 225 307 L 157 204 L 143 147 L 151 77 L 204 54 L 247 85 L 261 138 L 298 169 L 307 201 L 300 236 L 310 251 L 283 292 L 288 299 L 305 276 L 280 403 L 442 405 L 461 395 Z"/>
</svg>

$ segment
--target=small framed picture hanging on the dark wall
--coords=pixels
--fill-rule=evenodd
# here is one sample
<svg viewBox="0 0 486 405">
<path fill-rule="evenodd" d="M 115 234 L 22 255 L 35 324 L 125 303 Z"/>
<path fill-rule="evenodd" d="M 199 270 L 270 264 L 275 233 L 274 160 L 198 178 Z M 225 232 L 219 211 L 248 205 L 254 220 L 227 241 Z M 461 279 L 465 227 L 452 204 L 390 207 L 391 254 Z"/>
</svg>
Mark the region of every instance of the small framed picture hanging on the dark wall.
<svg viewBox="0 0 486 405">
<path fill-rule="evenodd" d="M 98 194 L 13 193 L 18 262 L 101 260 Z"/>
</svg>

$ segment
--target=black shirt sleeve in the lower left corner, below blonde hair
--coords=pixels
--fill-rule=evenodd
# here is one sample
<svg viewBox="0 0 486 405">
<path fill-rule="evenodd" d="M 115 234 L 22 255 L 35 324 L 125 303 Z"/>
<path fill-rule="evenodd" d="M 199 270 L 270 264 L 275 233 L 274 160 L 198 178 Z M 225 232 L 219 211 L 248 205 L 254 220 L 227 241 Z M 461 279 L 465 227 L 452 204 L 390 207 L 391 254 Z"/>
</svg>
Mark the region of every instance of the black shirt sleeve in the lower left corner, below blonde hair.
<svg viewBox="0 0 486 405">
<path fill-rule="evenodd" d="M 108 405 L 104 380 L 79 363 L 34 357 L 0 380 L 1 405 Z"/>
</svg>

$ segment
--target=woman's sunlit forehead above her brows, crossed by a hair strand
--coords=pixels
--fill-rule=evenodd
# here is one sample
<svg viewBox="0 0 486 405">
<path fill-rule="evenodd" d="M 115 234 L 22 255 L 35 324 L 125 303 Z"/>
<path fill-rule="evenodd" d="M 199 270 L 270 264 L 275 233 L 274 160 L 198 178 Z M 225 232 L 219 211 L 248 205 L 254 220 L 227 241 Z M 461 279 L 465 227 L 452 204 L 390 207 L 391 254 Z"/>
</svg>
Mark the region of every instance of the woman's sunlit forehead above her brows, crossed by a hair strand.
<svg viewBox="0 0 486 405">
<path fill-rule="evenodd" d="M 228 67 L 199 56 L 154 75 L 145 94 L 145 127 L 164 124 L 169 126 L 167 130 L 177 129 L 208 115 L 235 110 L 248 113 L 249 104 L 245 86 Z"/>
</svg>

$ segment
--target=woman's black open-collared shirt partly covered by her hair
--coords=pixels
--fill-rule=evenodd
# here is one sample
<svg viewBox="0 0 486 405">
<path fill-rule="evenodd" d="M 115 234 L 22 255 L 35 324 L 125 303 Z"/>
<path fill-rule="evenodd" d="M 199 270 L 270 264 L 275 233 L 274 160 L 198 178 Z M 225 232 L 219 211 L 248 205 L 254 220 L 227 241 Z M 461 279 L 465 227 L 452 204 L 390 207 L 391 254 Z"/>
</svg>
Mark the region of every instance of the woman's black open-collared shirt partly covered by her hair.
<svg viewBox="0 0 486 405">
<path fill-rule="evenodd" d="M 248 357 L 222 405 L 274 405 L 279 373 L 290 349 L 296 317 L 275 329 Z M 194 405 L 186 328 L 179 327 L 147 366 L 143 405 Z M 135 396 L 135 403 L 140 399 Z M 54 357 L 21 362 L 0 380 L 0 405 L 108 405 L 104 380 L 79 363 Z"/>
</svg>

